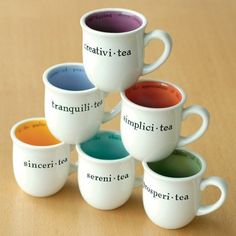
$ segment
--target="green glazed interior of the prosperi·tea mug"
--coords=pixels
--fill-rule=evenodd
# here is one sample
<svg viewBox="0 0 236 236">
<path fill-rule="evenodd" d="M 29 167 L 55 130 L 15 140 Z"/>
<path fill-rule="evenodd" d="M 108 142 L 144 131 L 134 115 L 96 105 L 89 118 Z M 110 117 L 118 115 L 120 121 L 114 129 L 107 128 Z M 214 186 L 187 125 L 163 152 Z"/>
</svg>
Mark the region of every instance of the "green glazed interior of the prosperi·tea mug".
<svg viewBox="0 0 236 236">
<path fill-rule="evenodd" d="M 199 158 L 184 150 L 175 150 L 167 158 L 147 165 L 155 173 L 173 178 L 190 177 L 202 169 Z"/>
</svg>

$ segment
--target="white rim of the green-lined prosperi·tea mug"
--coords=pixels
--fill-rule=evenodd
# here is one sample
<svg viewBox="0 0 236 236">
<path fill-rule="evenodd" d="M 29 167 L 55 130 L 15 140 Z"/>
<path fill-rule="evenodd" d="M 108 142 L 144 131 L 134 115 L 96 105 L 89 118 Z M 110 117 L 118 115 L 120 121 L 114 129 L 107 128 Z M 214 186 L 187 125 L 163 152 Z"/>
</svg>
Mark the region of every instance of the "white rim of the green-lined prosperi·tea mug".
<svg viewBox="0 0 236 236">
<path fill-rule="evenodd" d="M 151 175 L 155 179 L 160 179 L 160 180 L 169 181 L 169 182 L 186 182 L 186 181 L 191 181 L 193 179 L 196 179 L 205 173 L 206 161 L 203 159 L 203 157 L 200 154 L 196 153 L 195 151 L 189 150 L 187 148 L 176 148 L 175 150 L 184 151 L 186 153 L 193 155 L 195 158 L 197 158 L 201 162 L 201 169 L 196 174 L 188 176 L 188 177 L 169 177 L 169 176 L 164 176 L 159 173 L 156 173 L 148 166 L 149 162 L 142 161 L 142 166 L 144 168 L 144 175 L 146 172 L 148 175 Z"/>
</svg>

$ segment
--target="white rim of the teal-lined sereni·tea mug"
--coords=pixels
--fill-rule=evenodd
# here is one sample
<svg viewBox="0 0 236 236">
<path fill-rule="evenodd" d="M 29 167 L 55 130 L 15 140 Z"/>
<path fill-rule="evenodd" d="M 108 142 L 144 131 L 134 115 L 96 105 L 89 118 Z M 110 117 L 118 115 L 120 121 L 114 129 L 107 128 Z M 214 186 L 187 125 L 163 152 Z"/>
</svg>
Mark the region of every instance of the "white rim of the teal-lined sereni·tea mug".
<svg viewBox="0 0 236 236">
<path fill-rule="evenodd" d="M 120 131 L 118 130 L 99 130 L 96 134 L 100 134 L 100 133 L 108 133 L 108 132 L 112 132 L 114 134 L 118 134 L 120 135 Z M 95 135 L 96 135 L 95 134 Z M 94 135 L 94 136 L 95 136 Z M 120 135 L 121 137 L 121 135 Z M 89 139 L 88 139 L 89 140 Z M 86 140 L 85 142 L 87 142 L 88 140 Z M 121 140 L 122 142 L 122 140 Z M 79 144 L 76 144 L 76 150 L 77 150 L 77 153 L 79 154 L 79 158 L 83 158 L 83 159 L 86 159 L 86 160 L 89 160 L 91 162 L 95 162 L 95 163 L 101 163 L 101 164 L 114 164 L 114 163 L 119 163 L 119 162 L 124 162 L 124 161 L 128 161 L 129 159 L 132 158 L 132 156 L 128 153 L 127 156 L 125 157 L 122 157 L 122 158 L 119 158 L 119 159 L 113 159 L 113 160 L 104 160 L 104 159 L 99 159 L 99 158 L 96 158 L 96 157 L 92 157 L 90 155 L 88 155 L 86 152 L 84 152 L 81 148 L 81 144 L 82 143 L 79 143 Z M 83 155 L 81 155 L 83 154 Z"/>
</svg>

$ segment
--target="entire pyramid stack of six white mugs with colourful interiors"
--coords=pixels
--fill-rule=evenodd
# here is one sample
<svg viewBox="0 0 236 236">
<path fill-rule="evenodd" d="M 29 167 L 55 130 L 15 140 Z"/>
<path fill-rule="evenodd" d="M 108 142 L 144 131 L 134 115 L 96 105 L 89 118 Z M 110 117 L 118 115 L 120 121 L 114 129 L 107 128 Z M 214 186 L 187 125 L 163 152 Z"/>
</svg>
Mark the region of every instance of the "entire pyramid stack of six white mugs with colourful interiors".
<svg viewBox="0 0 236 236">
<path fill-rule="evenodd" d="M 143 205 L 156 225 L 175 229 L 196 215 L 208 214 L 225 201 L 227 184 L 220 177 L 203 178 L 206 162 L 181 149 L 208 128 L 209 114 L 199 105 L 184 108 L 185 92 L 177 85 L 139 77 L 154 71 L 171 52 L 168 33 L 145 33 L 146 18 L 135 11 L 109 8 L 81 17 L 83 64 L 63 63 L 43 74 L 45 118 L 30 118 L 11 129 L 13 167 L 26 193 L 55 194 L 70 173 L 78 170 L 84 200 L 95 208 L 115 209 L 143 185 Z M 144 64 L 144 48 L 152 39 L 164 44 L 162 55 Z M 104 111 L 109 92 L 120 91 L 121 102 Z M 99 131 L 100 125 L 121 112 L 120 132 Z M 180 136 L 182 121 L 201 117 L 200 128 Z M 76 165 L 70 152 L 76 146 Z M 135 159 L 144 175 L 136 177 Z M 218 201 L 200 205 L 200 192 L 213 185 Z"/>
</svg>

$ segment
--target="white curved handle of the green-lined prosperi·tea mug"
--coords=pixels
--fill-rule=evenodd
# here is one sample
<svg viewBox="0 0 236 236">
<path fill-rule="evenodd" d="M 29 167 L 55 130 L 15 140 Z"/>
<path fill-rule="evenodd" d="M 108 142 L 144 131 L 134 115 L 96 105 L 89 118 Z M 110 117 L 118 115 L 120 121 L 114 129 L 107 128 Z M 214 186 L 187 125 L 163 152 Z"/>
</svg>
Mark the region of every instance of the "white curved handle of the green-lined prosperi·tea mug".
<svg viewBox="0 0 236 236">
<path fill-rule="evenodd" d="M 217 202 L 211 205 L 201 205 L 197 211 L 197 216 L 209 214 L 218 208 L 220 208 L 225 202 L 226 195 L 228 192 L 227 183 L 220 177 L 211 176 L 206 179 L 203 179 L 200 183 L 200 189 L 203 191 L 207 186 L 216 186 L 220 189 L 221 195 Z"/>
</svg>

